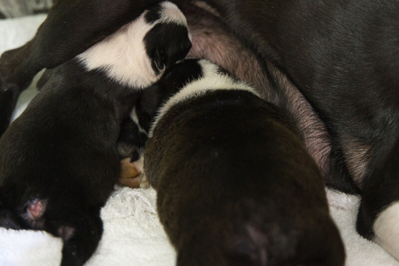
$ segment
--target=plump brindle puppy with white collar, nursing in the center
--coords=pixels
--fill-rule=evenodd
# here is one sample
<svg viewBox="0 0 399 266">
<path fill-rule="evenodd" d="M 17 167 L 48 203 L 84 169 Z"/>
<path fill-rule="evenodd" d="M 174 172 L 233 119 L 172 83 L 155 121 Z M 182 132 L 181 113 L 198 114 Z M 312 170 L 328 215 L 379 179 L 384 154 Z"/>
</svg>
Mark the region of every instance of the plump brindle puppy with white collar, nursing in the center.
<svg viewBox="0 0 399 266">
<path fill-rule="evenodd" d="M 178 266 L 344 265 L 318 167 L 253 88 L 187 59 L 135 108 L 157 114 L 144 168 Z"/>
</svg>

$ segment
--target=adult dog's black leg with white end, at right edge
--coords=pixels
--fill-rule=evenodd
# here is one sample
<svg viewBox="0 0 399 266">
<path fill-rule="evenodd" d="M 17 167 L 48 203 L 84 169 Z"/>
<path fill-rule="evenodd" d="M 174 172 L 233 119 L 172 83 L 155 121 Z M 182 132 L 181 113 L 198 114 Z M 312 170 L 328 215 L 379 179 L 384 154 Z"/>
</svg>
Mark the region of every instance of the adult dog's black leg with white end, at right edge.
<svg viewBox="0 0 399 266">
<path fill-rule="evenodd" d="M 365 182 L 357 230 L 399 260 L 399 142 Z"/>
</svg>

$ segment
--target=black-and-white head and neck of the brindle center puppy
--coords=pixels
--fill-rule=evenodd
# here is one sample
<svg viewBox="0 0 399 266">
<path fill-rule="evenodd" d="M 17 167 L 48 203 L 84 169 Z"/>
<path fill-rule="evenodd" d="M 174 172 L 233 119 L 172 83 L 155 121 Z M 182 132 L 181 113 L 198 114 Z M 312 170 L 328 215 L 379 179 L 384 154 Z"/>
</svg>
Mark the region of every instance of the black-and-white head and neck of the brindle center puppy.
<svg viewBox="0 0 399 266">
<path fill-rule="evenodd" d="M 158 82 L 142 91 L 130 118 L 122 124 L 118 140 L 120 157 L 137 160 L 156 118 L 160 118 L 173 104 L 194 97 L 198 91 L 219 88 L 247 87 L 203 59 L 186 59 L 168 67 Z"/>
</svg>

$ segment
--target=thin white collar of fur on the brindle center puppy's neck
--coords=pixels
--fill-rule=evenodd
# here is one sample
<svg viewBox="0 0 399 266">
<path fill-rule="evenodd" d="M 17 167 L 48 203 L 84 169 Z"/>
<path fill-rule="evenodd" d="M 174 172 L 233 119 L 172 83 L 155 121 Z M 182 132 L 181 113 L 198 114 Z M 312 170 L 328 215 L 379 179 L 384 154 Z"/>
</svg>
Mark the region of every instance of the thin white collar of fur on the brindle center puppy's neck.
<svg viewBox="0 0 399 266">
<path fill-rule="evenodd" d="M 207 91 L 212 90 L 246 90 L 252 92 L 256 96 L 259 94 L 256 90 L 245 83 L 238 81 L 226 74 L 218 71 L 218 66 L 204 59 L 199 60 L 202 68 L 202 78 L 188 83 L 178 93 L 172 96 L 160 109 L 154 124 L 150 129 L 149 136 L 152 137 L 152 131 L 161 117 L 168 112 L 172 106 L 199 97 Z"/>
</svg>

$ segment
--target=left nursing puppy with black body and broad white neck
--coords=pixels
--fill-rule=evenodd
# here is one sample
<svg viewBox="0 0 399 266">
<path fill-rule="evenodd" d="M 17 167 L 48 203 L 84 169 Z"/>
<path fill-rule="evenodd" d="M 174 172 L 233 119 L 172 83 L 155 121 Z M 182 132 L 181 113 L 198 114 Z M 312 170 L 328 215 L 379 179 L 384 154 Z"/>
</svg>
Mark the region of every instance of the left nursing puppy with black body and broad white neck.
<svg viewBox="0 0 399 266">
<path fill-rule="evenodd" d="M 190 47 L 184 15 L 162 2 L 48 72 L 0 138 L 0 226 L 61 237 L 61 265 L 84 264 L 119 176 L 121 122 Z"/>
</svg>

